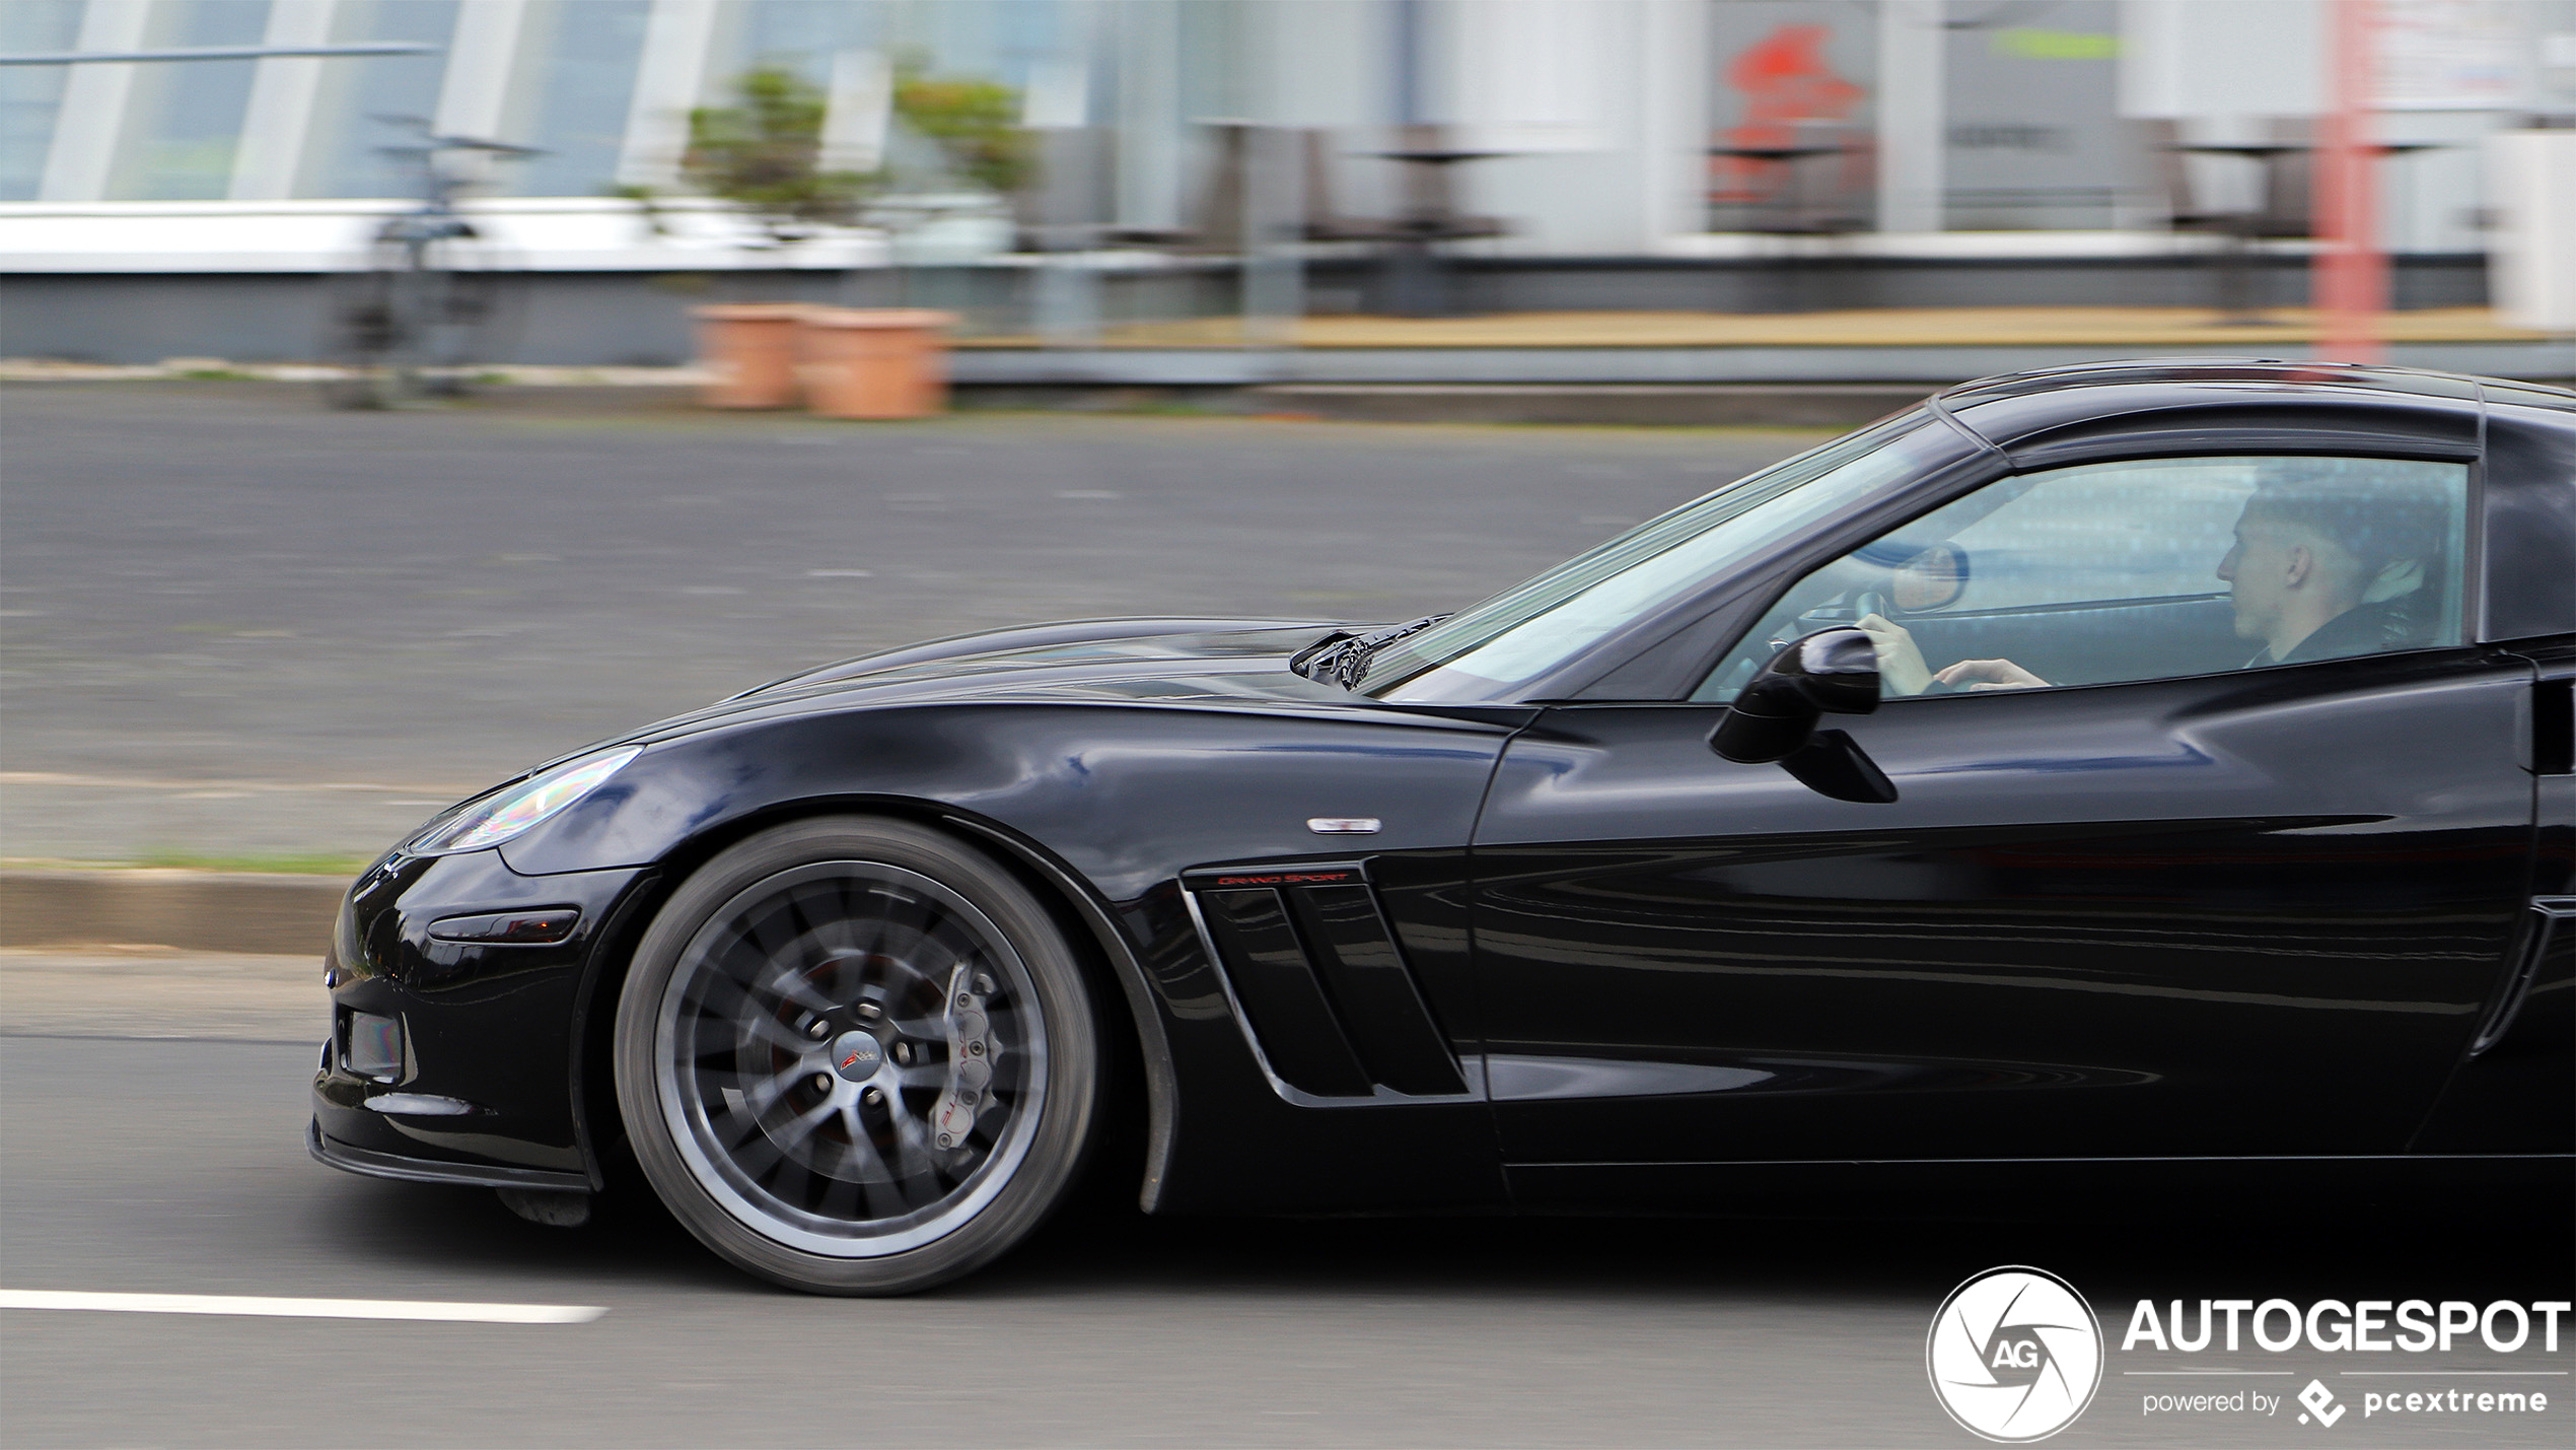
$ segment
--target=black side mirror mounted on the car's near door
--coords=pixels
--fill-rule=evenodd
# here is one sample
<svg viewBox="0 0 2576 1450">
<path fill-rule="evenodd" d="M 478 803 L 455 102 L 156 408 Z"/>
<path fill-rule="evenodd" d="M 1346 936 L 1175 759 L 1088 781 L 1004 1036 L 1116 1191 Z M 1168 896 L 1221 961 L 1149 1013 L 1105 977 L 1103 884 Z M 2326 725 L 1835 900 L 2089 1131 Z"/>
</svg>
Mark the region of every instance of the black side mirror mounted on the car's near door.
<svg viewBox="0 0 2576 1450">
<path fill-rule="evenodd" d="M 1777 760 L 1801 786 L 1834 801 L 1886 806 L 1896 786 L 1850 734 L 1816 729 L 1826 713 L 1878 708 L 1878 646 L 1857 628 L 1821 628 L 1772 654 L 1708 747 L 1739 765 Z"/>
</svg>

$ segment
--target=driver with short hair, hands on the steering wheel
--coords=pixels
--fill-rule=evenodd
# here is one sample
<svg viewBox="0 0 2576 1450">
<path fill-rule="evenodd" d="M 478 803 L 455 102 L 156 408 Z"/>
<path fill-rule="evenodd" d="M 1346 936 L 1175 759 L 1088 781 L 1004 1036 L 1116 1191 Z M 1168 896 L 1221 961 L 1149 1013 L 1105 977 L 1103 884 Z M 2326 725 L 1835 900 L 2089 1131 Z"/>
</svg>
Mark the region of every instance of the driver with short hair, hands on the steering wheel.
<svg viewBox="0 0 2576 1450">
<path fill-rule="evenodd" d="M 2331 476 L 2298 474 L 2257 487 L 2236 518 L 2236 546 L 2218 561 L 2236 608 L 2236 639 L 2262 644 L 2244 667 L 2427 644 L 2432 628 L 2419 618 L 2424 546 L 2437 528 L 2434 500 L 2362 492 Z M 1878 644 L 1880 677 L 1899 695 L 2027 690 L 2050 683 L 2012 659 L 1960 659 L 1932 670 L 1901 623 L 1873 613 L 1860 628 Z"/>
</svg>

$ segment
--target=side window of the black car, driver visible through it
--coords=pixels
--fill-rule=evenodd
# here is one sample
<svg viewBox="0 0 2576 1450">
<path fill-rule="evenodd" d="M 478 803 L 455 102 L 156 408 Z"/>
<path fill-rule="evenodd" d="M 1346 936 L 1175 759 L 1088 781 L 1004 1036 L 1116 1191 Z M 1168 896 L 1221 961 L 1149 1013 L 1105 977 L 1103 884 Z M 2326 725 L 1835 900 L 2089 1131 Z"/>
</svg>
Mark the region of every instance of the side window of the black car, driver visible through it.
<svg viewBox="0 0 2576 1450">
<path fill-rule="evenodd" d="M 2014 474 L 1790 585 L 1692 701 L 1870 631 L 1891 695 L 2107 685 L 2460 641 L 2468 466 L 2136 458 Z"/>
</svg>

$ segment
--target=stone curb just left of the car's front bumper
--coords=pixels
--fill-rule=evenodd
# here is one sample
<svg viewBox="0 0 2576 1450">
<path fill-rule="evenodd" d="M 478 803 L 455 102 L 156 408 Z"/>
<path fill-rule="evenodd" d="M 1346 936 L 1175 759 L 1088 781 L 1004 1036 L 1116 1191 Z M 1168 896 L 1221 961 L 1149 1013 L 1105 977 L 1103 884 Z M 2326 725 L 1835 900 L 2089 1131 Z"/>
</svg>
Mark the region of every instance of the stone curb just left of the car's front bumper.
<svg viewBox="0 0 2576 1450">
<path fill-rule="evenodd" d="M 0 948 L 322 956 L 348 881 L 258 871 L 0 871 Z"/>
</svg>

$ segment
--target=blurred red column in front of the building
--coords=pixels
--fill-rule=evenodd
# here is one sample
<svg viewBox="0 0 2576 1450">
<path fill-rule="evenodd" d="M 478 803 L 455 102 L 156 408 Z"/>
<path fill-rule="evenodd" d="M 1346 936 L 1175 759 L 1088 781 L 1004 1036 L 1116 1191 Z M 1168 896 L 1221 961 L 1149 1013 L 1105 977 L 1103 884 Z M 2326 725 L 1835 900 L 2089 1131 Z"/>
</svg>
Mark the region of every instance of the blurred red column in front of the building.
<svg viewBox="0 0 2576 1450">
<path fill-rule="evenodd" d="M 2385 361 L 2388 258 L 2370 134 L 2378 90 L 2378 0 L 2326 0 L 2326 116 L 2316 149 L 2316 255 L 2311 288 L 2326 314 L 2318 355 Z"/>
</svg>

